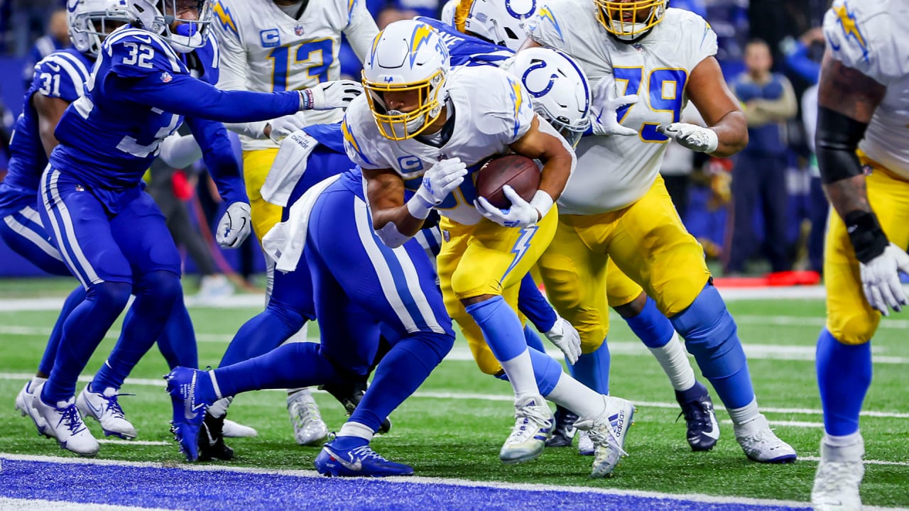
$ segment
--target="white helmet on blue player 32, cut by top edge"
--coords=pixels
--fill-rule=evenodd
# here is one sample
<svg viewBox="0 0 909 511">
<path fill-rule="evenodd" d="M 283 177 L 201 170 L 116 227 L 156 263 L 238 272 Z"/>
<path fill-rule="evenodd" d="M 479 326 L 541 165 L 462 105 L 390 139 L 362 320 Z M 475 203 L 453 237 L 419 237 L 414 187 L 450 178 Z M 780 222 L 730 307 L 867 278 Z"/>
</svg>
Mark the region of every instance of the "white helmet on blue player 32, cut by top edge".
<svg viewBox="0 0 909 511">
<path fill-rule="evenodd" d="M 180 53 L 208 42 L 211 0 L 120 0 L 135 15 L 135 25 L 164 37 Z M 176 26 L 175 26 L 176 24 Z"/>
</svg>

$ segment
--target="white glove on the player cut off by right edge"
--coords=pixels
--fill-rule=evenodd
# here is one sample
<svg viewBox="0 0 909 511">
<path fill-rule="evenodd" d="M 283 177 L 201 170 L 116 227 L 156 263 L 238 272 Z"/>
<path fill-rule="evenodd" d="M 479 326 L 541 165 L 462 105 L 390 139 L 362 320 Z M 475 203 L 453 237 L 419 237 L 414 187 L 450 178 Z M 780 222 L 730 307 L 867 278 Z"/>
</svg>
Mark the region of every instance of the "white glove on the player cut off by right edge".
<svg viewBox="0 0 909 511">
<path fill-rule="evenodd" d="M 872 308 L 884 316 L 890 314 L 888 306 L 900 312 L 909 303 L 900 282 L 899 272 L 909 274 L 909 254 L 891 243 L 884 252 L 868 264 L 859 264 L 864 297 Z"/>
</svg>

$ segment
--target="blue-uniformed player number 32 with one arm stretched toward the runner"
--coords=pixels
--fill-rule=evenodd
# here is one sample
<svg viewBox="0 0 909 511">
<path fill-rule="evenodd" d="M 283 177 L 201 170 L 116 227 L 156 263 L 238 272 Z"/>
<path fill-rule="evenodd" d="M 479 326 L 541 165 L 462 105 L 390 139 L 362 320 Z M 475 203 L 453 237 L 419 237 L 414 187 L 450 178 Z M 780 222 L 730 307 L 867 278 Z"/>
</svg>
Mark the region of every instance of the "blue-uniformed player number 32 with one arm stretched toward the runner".
<svg viewBox="0 0 909 511">
<path fill-rule="evenodd" d="M 99 373 L 122 382 L 182 293 L 173 239 L 141 185 L 162 140 L 187 115 L 208 165 L 233 177 L 220 184 L 228 206 L 216 237 L 222 245 L 238 245 L 250 231 L 249 205 L 220 122 L 342 107 L 359 94 L 352 82 L 274 94 L 219 91 L 193 76 L 177 55 L 205 45 L 208 1 L 122 4 L 112 14 L 127 16 L 131 24 L 105 38 L 85 95 L 67 107 L 56 127 L 60 144 L 40 184 L 42 222 L 86 297 L 63 325 L 54 368 L 35 406 L 61 446 L 85 456 L 98 446 L 75 406 L 76 377 L 132 292 L 136 299 L 123 335 Z M 180 25 L 186 25 L 182 34 Z"/>
</svg>

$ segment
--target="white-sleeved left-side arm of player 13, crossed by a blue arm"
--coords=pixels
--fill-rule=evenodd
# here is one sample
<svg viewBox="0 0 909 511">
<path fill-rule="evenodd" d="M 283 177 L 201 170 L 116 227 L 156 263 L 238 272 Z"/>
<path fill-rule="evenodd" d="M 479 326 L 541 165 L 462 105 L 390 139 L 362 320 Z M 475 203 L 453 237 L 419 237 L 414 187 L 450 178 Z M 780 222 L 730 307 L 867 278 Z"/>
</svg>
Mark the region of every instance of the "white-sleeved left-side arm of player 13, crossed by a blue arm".
<svg viewBox="0 0 909 511">
<path fill-rule="evenodd" d="M 224 2 L 216 2 L 213 10 L 215 23 L 212 25 L 219 43 L 218 88 L 225 91 L 245 90 L 246 49 L 241 43 L 240 27 L 236 24 L 229 5 L 225 5 Z M 266 124 L 266 121 L 255 121 L 251 123 L 228 123 L 225 126 L 240 135 L 246 135 L 251 138 L 267 138 L 265 136 Z"/>
</svg>

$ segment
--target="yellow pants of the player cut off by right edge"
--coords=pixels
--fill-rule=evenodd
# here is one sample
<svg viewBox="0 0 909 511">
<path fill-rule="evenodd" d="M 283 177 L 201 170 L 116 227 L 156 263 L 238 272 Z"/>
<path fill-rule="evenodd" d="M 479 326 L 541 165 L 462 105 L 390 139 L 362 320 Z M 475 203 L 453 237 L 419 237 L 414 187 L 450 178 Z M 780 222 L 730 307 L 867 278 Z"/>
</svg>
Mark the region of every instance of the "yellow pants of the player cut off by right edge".
<svg viewBox="0 0 909 511">
<path fill-rule="evenodd" d="M 909 246 L 909 181 L 894 175 L 861 152 L 863 165 L 872 167 L 865 178 L 868 202 L 884 234 L 894 244 Z M 824 285 L 827 288 L 827 330 L 847 345 L 871 340 L 881 313 L 868 305 L 862 291 L 859 263 L 843 219 L 831 210 L 824 242 Z"/>
</svg>

